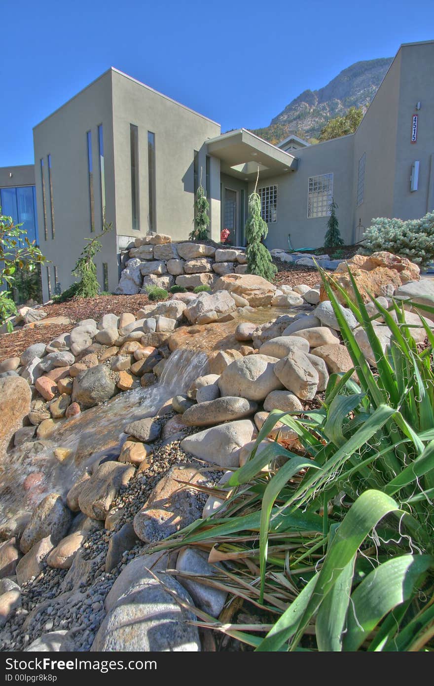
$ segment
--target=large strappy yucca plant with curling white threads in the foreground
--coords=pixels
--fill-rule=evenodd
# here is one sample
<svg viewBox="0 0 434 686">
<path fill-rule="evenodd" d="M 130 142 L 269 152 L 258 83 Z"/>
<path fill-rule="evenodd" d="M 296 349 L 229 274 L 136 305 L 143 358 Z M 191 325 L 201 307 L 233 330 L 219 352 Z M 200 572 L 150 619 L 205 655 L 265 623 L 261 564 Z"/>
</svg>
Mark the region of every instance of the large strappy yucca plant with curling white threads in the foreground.
<svg viewBox="0 0 434 686">
<path fill-rule="evenodd" d="M 263 624 L 194 611 L 258 651 L 434 648 L 434 334 L 421 316 L 429 346 L 419 352 L 403 305 L 373 298 L 370 316 L 348 272 L 355 303 L 320 270 L 354 367 L 330 375 L 319 407 L 272 411 L 230 490 L 208 489 L 221 506 L 154 546 L 230 560 L 203 582 L 250 601 Z M 331 285 L 365 329 L 376 370 Z M 434 300 L 418 310 L 432 316 Z M 386 351 L 378 317 L 392 333 Z M 278 421 L 297 441 L 277 436 L 258 451 Z"/>
</svg>

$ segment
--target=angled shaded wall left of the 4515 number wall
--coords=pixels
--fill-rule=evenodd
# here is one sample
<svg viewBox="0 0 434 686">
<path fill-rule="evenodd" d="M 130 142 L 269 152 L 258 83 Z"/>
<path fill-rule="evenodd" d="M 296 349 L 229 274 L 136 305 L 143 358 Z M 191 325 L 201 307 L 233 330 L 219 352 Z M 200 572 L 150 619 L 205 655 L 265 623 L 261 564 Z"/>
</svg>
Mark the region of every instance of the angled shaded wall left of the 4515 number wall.
<svg viewBox="0 0 434 686">
<path fill-rule="evenodd" d="M 398 53 L 354 134 L 354 240 L 359 239 L 359 220 L 367 228 L 373 217 L 393 216 L 400 61 Z M 365 187 L 363 202 L 356 207 L 359 159 L 363 153 L 366 153 Z"/>
</svg>

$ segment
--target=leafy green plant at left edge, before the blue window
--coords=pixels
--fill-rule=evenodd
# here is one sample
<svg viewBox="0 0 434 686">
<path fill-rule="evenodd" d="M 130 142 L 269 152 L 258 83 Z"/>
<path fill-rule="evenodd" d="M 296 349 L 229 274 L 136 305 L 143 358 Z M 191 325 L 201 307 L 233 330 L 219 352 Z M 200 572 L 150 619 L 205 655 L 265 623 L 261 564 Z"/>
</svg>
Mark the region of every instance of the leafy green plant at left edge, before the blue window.
<svg viewBox="0 0 434 686">
<path fill-rule="evenodd" d="M 15 224 L 12 217 L 2 215 L 0 207 L 0 283 L 5 287 L 0 292 L 0 324 L 16 314 L 9 288 L 14 287 L 17 272 L 33 274 L 36 266 L 45 262 L 42 252 L 34 241 L 29 241 L 27 231 L 21 226 L 23 224 Z M 12 323 L 8 322 L 8 331 L 12 328 Z"/>
</svg>

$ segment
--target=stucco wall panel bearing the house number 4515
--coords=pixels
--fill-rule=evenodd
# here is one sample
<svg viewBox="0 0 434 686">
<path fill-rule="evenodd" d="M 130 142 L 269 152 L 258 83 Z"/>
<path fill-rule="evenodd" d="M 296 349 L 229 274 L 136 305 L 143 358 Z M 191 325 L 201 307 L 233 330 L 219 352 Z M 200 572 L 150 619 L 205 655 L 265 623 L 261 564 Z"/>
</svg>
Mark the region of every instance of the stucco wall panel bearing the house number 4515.
<svg viewBox="0 0 434 686">
<path fill-rule="evenodd" d="M 431 158 L 434 154 L 434 43 L 400 49 L 400 89 L 392 216 L 415 219 L 434 210 Z M 420 102 L 420 110 L 415 109 Z M 418 137 L 411 143 L 411 120 L 418 115 Z M 418 190 L 410 191 L 413 162 L 419 161 Z"/>
</svg>

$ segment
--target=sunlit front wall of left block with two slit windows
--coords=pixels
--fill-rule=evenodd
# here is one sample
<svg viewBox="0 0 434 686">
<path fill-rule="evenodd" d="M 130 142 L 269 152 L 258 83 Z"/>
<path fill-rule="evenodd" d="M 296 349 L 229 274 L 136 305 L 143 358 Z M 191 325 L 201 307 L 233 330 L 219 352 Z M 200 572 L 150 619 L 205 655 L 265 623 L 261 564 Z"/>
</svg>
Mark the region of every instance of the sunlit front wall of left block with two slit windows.
<svg viewBox="0 0 434 686">
<path fill-rule="evenodd" d="M 149 185 L 147 132 L 155 134 L 156 230 L 173 240 L 186 239 L 193 227 L 193 157 L 199 152 L 199 178 L 206 185 L 206 139 L 218 136 L 219 124 L 134 79 L 112 71 L 114 163 L 117 231 L 136 237 L 148 232 Z M 130 123 L 138 127 L 140 231 L 132 229 Z M 211 222 L 219 231 L 219 163 L 211 169 Z"/>
</svg>

